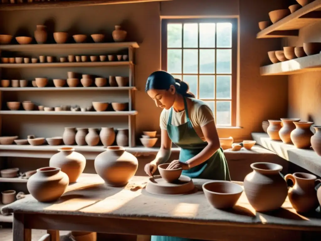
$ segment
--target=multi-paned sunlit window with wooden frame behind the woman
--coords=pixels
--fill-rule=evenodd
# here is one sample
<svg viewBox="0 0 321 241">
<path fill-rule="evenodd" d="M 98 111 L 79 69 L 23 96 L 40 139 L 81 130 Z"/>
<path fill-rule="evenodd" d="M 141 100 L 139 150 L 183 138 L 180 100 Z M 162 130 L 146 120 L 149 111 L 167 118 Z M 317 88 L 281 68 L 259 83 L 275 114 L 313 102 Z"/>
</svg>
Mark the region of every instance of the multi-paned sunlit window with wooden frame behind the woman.
<svg viewBox="0 0 321 241">
<path fill-rule="evenodd" d="M 163 19 L 162 69 L 188 83 L 217 126 L 236 125 L 236 19 Z"/>
</svg>

